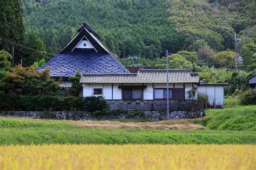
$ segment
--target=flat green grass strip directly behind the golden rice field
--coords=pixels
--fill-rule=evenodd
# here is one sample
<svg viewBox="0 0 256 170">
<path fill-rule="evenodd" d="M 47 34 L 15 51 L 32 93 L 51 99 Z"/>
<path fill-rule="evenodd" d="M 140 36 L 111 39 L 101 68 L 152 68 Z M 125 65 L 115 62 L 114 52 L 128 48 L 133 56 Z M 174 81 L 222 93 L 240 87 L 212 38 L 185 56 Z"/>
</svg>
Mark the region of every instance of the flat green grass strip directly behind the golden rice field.
<svg viewBox="0 0 256 170">
<path fill-rule="evenodd" d="M 0 118 L 0 145 L 256 144 L 254 131 L 86 129 L 66 121 Z"/>
</svg>

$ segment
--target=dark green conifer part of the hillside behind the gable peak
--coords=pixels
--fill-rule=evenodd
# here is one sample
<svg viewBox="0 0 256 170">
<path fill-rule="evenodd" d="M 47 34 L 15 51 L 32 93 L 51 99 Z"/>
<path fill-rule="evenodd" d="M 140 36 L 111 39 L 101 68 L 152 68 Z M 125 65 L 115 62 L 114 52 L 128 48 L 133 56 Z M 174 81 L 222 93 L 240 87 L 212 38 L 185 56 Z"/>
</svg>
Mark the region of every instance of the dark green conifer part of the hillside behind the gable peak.
<svg viewBox="0 0 256 170">
<path fill-rule="evenodd" d="M 75 36 L 83 22 L 120 57 L 137 54 L 153 59 L 167 47 L 177 52 L 183 45 L 183 38 L 168 22 L 165 0 L 24 0 L 22 6 L 26 29 L 36 31 L 55 53 Z"/>
</svg>

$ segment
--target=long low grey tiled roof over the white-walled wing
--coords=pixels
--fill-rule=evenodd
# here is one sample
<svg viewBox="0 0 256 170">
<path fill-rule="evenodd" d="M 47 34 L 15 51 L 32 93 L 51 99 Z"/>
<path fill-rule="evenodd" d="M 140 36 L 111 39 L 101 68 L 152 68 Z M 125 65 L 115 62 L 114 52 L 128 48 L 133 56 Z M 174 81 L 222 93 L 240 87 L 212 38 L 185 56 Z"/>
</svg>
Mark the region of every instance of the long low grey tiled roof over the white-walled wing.
<svg viewBox="0 0 256 170">
<path fill-rule="evenodd" d="M 166 83 L 165 69 L 140 69 L 130 74 L 84 74 L 81 83 Z M 170 69 L 169 83 L 198 83 L 199 74 L 190 69 Z"/>
</svg>

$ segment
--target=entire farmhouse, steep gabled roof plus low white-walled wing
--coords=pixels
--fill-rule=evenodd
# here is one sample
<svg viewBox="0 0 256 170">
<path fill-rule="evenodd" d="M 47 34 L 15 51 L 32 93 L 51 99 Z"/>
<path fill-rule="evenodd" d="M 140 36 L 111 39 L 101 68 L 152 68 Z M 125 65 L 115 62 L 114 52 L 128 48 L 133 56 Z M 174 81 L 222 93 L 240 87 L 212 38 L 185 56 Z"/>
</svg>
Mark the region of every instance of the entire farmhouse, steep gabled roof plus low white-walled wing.
<svg viewBox="0 0 256 170">
<path fill-rule="evenodd" d="M 209 84 L 200 87 L 198 73 L 192 73 L 190 69 L 170 69 L 167 92 L 165 69 L 129 67 L 131 70 L 129 72 L 107 50 L 102 44 L 102 39 L 89 25 L 84 24 L 77 32 L 77 36 L 62 51 L 38 69 L 40 71 L 50 67 L 52 77 L 56 80 L 62 77 L 63 83 L 60 87 L 72 87 L 68 79 L 79 71 L 83 75 L 80 79 L 80 83 L 83 84 L 82 95 L 104 96 L 112 105 L 119 103 L 123 106 L 126 102 L 126 105 L 163 110 L 166 108 L 163 106 L 166 104 L 168 93 L 176 110 L 194 111 L 195 105 L 200 110 L 201 101 L 195 104 L 196 96 L 191 98 L 188 95 L 188 91 L 198 88 L 202 93 L 204 93 L 203 89 L 207 89 L 205 94 L 211 99 L 208 103 L 214 106 L 221 105 L 219 108 L 223 108 L 224 84 L 211 84 L 214 89 L 208 87 Z"/>
</svg>

